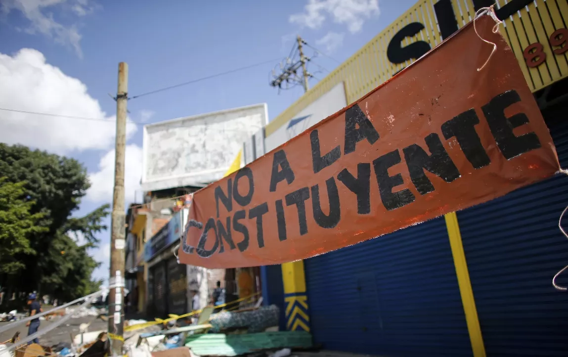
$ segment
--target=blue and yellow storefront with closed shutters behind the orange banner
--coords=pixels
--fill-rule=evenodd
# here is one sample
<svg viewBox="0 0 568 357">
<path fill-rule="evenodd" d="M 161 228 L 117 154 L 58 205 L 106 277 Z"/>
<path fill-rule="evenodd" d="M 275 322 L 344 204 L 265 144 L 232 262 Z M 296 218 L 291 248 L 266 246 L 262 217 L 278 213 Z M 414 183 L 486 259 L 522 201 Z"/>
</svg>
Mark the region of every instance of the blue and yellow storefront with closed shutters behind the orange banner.
<svg viewBox="0 0 568 357">
<path fill-rule="evenodd" d="M 356 101 L 492 3 L 417 2 L 271 121 L 260 138 L 250 138 L 245 153 L 261 156 Z M 567 167 L 568 3 L 499 1 L 495 9 Z M 254 158 L 245 155 L 245 164 Z M 457 220 L 432 219 L 304 261 L 262 267 L 263 297 L 283 305 L 287 329 L 308 330 L 329 350 L 565 356 L 568 300 L 551 282 L 568 256 L 558 230 L 567 187 L 568 177 L 553 177 L 459 211 Z M 558 284 L 568 285 L 566 276 Z"/>
</svg>

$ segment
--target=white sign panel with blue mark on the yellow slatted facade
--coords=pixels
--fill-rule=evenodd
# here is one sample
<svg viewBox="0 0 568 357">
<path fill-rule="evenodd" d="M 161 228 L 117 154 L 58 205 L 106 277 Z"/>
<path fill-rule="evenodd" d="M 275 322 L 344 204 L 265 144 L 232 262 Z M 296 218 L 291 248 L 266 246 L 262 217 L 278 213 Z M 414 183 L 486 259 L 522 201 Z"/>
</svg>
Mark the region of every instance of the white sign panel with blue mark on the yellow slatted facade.
<svg viewBox="0 0 568 357">
<path fill-rule="evenodd" d="M 312 125 L 322 121 L 347 106 L 343 82 L 335 85 L 329 92 L 310 103 L 304 110 L 296 114 L 264 140 L 265 152 L 294 138 Z M 257 156 L 258 157 L 258 156 Z M 249 163 L 249 161 L 245 161 Z"/>
</svg>

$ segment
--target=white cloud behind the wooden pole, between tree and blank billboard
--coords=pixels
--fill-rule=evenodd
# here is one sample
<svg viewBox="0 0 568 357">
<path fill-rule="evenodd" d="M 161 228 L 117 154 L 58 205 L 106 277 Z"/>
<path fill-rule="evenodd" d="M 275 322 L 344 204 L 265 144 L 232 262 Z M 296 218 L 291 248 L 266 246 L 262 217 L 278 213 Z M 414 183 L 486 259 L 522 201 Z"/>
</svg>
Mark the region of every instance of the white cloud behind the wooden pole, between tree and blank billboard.
<svg viewBox="0 0 568 357">
<path fill-rule="evenodd" d="M 91 173 L 91 188 L 87 190 L 86 200 L 101 203 L 112 202 L 114 182 L 115 151 L 110 150 L 99 161 L 99 171 Z M 142 148 L 136 144 L 126 146 L 124 160 L 124 200 L 125 205 L 134 202 L 135 192 L 140 191 L 142 176 Z"/>
</svg>

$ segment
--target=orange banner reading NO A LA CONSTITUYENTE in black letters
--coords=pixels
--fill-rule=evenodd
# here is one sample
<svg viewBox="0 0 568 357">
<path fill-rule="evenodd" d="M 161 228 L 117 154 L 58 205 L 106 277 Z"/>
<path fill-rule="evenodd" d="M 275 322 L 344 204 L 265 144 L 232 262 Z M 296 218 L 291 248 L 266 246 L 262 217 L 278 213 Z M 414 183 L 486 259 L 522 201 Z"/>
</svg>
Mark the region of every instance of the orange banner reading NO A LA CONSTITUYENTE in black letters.
<svg viewBox="0 0 568 357">
<path fill-rule="evenodd" d="M 410 67 L 199 190 L 182 263 L 279 264 L 481 204 L 558 158 L 511 48 L 482 16 Z M 380 239 L 380 238 L 379 238 Z"/>
</svg>

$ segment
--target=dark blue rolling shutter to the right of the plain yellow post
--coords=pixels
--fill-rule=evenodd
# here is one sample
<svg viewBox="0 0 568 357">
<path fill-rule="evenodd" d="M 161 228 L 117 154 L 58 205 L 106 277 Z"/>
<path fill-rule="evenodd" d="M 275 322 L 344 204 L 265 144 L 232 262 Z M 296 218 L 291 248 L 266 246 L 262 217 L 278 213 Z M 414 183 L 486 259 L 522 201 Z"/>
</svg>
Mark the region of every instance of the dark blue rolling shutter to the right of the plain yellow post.
<svg viewBox="0 0 568 357">
<path fill-rule="evenodd" d="M 565 113 L 566 103 L 544 113 L 562 167 Z M 568 177 L 557 176 L 457 213 L 488 356 L 568 356 L 568 294 L 552 286 L 568 264 L 567 204 Z"/>
</svg>

